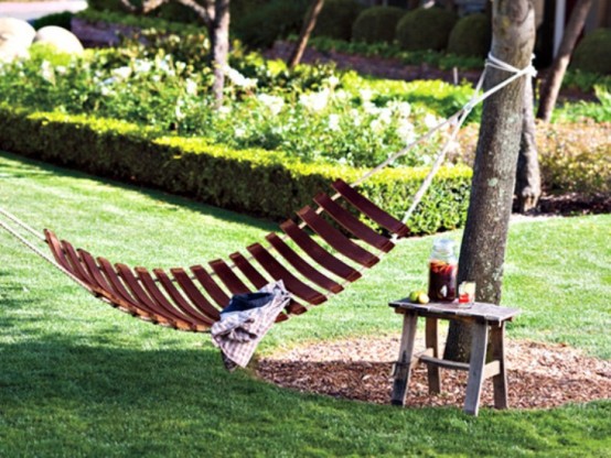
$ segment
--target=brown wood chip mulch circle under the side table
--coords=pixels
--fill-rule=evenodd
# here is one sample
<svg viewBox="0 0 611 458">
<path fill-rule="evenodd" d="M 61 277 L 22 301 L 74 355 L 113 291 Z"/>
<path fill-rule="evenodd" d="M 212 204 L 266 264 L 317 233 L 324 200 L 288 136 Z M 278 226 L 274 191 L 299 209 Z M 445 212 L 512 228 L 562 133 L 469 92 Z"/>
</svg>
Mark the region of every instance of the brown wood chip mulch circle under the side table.
<svg viewBox="0 0 611 458">
<path fill-rule="evenodd" d="M 553 344 L 505 342 L 511 408 L 549 408 L 611 399 L 611 361 Z M 279 386 L 333 397 L 389 404 L 392 368 L 399 337 L 321 342 L 259 359 L 257 375 Z M 416 352 L 424 350 L 416 342 Z M 429 394 L 426 367 L 411 372 L 406 406 L 458 406 L 464 403 L 467 373 L 443 370 L 442 393 Z M 493 406 L 492 379 L 484 381 L 481 406 Z"/>
</svg>

